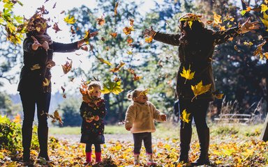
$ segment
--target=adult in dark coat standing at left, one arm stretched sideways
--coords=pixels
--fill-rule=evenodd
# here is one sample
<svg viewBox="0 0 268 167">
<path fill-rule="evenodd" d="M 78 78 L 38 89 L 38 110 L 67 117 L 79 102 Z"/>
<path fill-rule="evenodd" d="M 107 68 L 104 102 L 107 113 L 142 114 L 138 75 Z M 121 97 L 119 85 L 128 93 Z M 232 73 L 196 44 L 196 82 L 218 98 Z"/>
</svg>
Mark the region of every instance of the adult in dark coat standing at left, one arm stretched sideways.
<svg viewBox="0 0 268 167">
<path fill-rule="evenodd" d="M 51 73 L 55 65 L 52 61 L 54 52 L 70 52 L 79 49 L 89 38 L 98 32 L 90 33 L 87 38 L 77 42 L 63 44 L 51 40 L 47 34 L 47 20 L 36 13 L 27 24 L 27 38 L 23 42 L 23 63 L 20 72 L 20 82 L 17 90 L 20 92 L 23 107 L 22 147 L 23 161 L 30 162 L 30 147 L 34 113 L 37 106 L 38 141 L 40 152 L 38 157 L 49 161 L 47 154 L 47 115 L 50 108 Z"/>
</svg>

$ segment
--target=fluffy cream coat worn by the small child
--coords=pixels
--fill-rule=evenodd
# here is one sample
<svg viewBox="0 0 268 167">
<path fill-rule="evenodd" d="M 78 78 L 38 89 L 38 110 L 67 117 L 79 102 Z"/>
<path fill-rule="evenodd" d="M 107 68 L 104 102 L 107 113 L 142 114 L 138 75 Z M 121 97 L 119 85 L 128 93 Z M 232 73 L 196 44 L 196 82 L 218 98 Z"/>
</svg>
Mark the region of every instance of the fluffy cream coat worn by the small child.
<svg viewBox="0 0 268 167">
<path fill-rule="evenodd" d="M 131 127 L 131 133 L 133 134 L 155 132 L 154 120 L 163 122 L 161 115 L 165 114 L 156 109 L 154 104 L 149 101 L 145 104 L 132 102 L 126 111 L 125 127 Z"/>
</svg>

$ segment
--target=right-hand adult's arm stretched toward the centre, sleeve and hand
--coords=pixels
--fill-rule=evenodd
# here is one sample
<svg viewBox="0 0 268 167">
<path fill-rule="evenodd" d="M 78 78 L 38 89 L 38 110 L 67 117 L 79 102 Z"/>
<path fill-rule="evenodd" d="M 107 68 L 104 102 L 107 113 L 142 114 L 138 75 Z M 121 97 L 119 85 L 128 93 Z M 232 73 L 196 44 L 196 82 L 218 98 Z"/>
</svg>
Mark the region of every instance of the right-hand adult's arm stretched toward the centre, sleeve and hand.
<svg viewBox="0 0 268 167">
<path fill-rule="evenodd" d="M 152 26 L 151 29 L 145 29 L 143 34 L 145 37 L 150 36 L 154 38 L 154 40 L 158 40 L 169 45 L 179 46 L 180 34 L 159 33 L 154 31 Z"/>
</svg>

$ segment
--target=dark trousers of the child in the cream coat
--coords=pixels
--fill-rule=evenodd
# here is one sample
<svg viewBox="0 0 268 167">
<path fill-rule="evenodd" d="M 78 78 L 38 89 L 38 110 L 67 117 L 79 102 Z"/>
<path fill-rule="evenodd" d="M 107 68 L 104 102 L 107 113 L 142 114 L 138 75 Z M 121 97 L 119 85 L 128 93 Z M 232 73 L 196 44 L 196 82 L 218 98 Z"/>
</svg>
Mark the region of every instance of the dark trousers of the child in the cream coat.
<svg viewBox="0 0 268 167">
<path fill-rule="evenodd" d="M 142 141 L 147 153 L 151 154 L 153 152 L 151 148 L 151 132 L 137 133 L 133 134 L 134 139 L 134 154 L 140 154 L 140 149 L 142 148 Z"/>
</svg>

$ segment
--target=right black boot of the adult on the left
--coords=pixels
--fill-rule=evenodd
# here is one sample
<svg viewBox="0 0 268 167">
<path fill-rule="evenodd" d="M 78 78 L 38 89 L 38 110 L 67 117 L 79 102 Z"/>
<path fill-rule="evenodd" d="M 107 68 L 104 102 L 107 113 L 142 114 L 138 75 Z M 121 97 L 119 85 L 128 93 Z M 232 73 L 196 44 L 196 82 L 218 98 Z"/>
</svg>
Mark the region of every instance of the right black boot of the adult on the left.
<svg viewBox="0 0 268 167">
<path fill-rule="evenodd" d="M 48 138 L 48 127 L 38 127 L 38 141 L 40 152 L 38 158 L 43 157 L 46 161 L 50 161 L 47 154 L 47 138 Z"/>
</svg>

